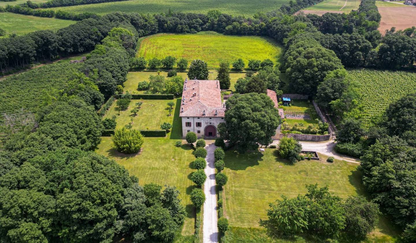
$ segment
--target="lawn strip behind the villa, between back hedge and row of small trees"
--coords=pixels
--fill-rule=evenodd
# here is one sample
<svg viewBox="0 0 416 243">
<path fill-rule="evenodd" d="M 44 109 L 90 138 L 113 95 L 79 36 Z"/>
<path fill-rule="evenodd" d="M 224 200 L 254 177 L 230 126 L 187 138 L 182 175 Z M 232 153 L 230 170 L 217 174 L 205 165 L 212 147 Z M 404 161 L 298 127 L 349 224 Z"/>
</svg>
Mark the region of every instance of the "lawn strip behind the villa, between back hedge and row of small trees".
<svg viewBox="0 0 416 243">
<path fill-rule="evenodd" d="M 140 94 L 143 93 L 143 91 L 137 91 L 137 85 L 141 81 L 147 81 L 149 82 L 150 75 L 157 75 L 157 72 L 129 72 L 127 74 L 127 81 L 124 82 L 124 91 L 129 91 L 133 94 Z M 160 75 L 163 75 L 167 78 L 167 72 L 160 72 Z M 186 72 L 178 72 L 178 76 L 182 76 L 183 79 L 188 77 L 188 73 Z M 245 73 L 230 73 L 231 78 L 231 86 L 230 89 L 234 90 L 234 84 L 237 82 L 237 79 L 245 77 Z M 217 78 L 217 71 L 216 70 L 210 70 L 209 71 L 209 80 L 215 80 Z"/>
</svg>

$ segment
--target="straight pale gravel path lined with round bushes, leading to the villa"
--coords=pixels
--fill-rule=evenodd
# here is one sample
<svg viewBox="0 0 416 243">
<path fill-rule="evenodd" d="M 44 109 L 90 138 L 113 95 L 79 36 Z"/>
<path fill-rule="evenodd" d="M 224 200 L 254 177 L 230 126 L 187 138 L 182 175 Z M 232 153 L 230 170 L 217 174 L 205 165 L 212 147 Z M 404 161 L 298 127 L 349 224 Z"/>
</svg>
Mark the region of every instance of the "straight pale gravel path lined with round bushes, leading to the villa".
<svg viewBox="0 0 416 243">
<path fill-rule="evenodd" d="M 203 219 L 203 243 L 218 242 L 218 212 L 217 212 L 217 192 L 215 191 L 215 167 L 214 150 L 215 145 L 211 143 L 205 147 L 207 150 L 207 167 L 205 174 L 207 180 L 204 183 L 205 203 Z"/>
</svg>

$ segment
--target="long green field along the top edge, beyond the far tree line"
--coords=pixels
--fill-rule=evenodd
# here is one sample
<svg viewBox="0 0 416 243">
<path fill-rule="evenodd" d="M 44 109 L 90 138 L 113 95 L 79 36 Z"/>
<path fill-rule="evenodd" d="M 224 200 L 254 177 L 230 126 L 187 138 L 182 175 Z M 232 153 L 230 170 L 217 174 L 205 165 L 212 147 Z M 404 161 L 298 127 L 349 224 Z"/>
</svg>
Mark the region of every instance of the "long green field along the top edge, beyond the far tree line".
<svg viewBox="0 0 416 243">
<path fill-rule="evenodd" d="M 257 12 L 268 12 L 278 9 L 289 0 L 131 0 L 122 2 L 106 2 L 88 5 L 77 5 L 69 7 L 56 7 L 53 10 L 64 10 L 68 12 L 94 12 L 106 14 L 109 12 L 138 12 L 138 13 L 161 13 L 168 12 L 193 12 L 206 13 L 210 10 L 219 10 L 231 15 L 253 16 Z"/>
</svg>

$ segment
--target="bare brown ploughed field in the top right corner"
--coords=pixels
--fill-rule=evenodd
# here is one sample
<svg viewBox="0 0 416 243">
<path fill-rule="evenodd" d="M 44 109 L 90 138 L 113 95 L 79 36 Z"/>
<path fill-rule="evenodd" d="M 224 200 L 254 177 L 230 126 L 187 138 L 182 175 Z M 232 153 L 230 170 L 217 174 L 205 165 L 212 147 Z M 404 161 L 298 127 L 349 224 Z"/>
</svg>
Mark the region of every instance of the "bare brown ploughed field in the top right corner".
<svg viewBox="0 0 416 243">
<path fill-rule="evenodd" d="M 396 30 L 416 26 L 416 7 L 378 7 L 381 14 L 379 31 L 396 27 Z"/>
</svg>

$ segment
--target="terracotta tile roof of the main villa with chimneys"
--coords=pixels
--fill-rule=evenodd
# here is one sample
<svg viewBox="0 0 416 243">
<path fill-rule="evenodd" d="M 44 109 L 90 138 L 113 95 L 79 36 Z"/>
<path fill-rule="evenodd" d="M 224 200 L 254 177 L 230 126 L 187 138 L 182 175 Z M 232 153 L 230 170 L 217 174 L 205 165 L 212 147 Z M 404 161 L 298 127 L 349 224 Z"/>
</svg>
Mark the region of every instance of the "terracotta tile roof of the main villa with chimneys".
<svg viewBox="0 0 416 243">
<path fill-rule="evenodd" d="M 204 114 L 205 112 L 205 114 Z M 185 80 L 180 117 L 224 117 L 218 80 Z"/>
</svg>

